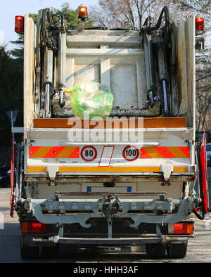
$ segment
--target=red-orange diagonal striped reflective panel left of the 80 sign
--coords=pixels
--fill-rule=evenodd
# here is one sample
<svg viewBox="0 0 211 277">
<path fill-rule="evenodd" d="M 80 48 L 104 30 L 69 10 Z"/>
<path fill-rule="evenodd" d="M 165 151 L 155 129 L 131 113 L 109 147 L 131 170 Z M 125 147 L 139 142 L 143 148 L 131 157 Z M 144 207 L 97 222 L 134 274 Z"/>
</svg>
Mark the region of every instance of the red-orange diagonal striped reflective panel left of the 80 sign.
<svg viewBox="0 0 211 277">
<path fill-rule="evenodd" d="M 79 158 L 79 147 L 30 146 L 32 158 Z"/>
</svg>

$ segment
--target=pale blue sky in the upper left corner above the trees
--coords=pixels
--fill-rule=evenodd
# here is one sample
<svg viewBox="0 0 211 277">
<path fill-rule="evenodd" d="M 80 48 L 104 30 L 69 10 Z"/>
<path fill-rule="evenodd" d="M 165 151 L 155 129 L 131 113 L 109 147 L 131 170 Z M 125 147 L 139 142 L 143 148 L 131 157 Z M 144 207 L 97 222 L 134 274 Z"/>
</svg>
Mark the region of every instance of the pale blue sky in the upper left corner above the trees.
<svg viewBox="0 0 211 277">
<path fill-rule="evenodd" d="M 4 0 L 1 1 L 0 16 L 0 46 L 7 44 L 6 50 L 11 50 L 15 46 L 9 41 L 18 39 L 15 34 L 15 15 L 25 15 L 27 13 L 38 13 L 42 8 L 60 8 L 63 3 L 69 3 L 70 8 L 76 9 L 80 4 L 92 6 L 98 3 L 97 0 Z M 89 9 L 88 9 L 89 12 Z"/>
</svg>

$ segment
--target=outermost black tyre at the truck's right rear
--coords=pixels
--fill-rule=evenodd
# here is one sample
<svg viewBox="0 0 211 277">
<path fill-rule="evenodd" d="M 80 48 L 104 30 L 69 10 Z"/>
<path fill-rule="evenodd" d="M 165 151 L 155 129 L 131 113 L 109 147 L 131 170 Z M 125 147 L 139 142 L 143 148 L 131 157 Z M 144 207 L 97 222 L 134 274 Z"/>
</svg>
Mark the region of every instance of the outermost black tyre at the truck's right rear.
<svg viewBox="0 0 211 277">
<path fill-rule="evenodd" d="M 170 243 L 167 245 L 167 255 L 170 259 L 186 257 L 188 243 Z"/>
</svg>

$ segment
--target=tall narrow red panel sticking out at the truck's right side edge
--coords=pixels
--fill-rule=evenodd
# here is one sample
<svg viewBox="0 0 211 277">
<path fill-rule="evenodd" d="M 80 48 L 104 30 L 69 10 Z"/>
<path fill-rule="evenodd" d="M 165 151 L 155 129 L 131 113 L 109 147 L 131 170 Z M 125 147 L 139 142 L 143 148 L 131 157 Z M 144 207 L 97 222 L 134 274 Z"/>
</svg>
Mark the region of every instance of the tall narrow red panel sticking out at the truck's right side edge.
<svg viewBox="0 0 211 277">
<path fill-rule="evenodd" d="M 206 154 L 206 138 L 205 133 L 197 149 L 198 160 L 198 188 L 200 193 L 200 205 L 199 209 L 195 209 L 193 212 L 196 216 L 203 220 L 205 214 L 209 212 L 209 192 L 208 192 L 208 180 L 207 180 L 207 154 Z M 197 210 L 202 212 L 202 216 L 198 214 Z"/>
</svg>

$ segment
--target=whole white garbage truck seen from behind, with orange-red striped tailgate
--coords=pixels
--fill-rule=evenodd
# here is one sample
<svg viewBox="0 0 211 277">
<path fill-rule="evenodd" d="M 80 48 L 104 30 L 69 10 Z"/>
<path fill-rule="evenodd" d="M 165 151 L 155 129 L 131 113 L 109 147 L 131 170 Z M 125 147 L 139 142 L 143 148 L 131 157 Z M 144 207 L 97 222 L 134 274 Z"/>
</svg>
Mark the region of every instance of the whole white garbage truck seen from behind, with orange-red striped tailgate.
<svg viewBox="0 0 211 277">
<path fill-rule="evenodd" d="M 11 216 L 21 257 L 56 257 L 60 245 L 145 245 L 149 258 L 183 258 L 193 214 L 209 212 L 205 137 L 195 139 L 203 18 L 171 22 L 166 6 L 141 30 L 86 28 L 87 18 L 79 7 L 68 30 L 49 8 L 36 25 L 15 17 L 24 140 L 13 148 Z"/>
</svg>

